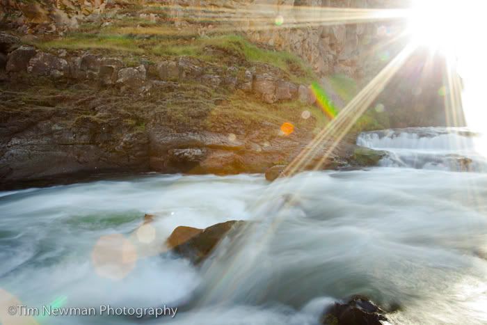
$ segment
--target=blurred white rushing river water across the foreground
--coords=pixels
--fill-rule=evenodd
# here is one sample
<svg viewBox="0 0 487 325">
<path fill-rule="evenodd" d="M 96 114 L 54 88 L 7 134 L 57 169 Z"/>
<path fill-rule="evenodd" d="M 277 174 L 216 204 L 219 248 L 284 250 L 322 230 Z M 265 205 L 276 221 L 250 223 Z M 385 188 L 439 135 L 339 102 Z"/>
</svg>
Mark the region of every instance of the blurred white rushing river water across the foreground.
<svg viewBox="0 0 487 325">
<path fill-rule="evenodd" d="M 383 138 L 359 141 L 397 147 L 399 139 Z M 96 308 L 175 307 L 191 297 L 190 310 L 147 322 L 302 325 L 317 324 L 333 301 L 365 294 L 384 308 L 400 306 L 388 315 L 398 324 L 485 324 L 486 198 L 487 174 L 397 167 L 271 184 L 262 175 L 138 175 L 0 192 L 0 308 L 13 296 L 29 307 Z M 155 215 L 154 233 L 141 231 L 145 213 Z M 177 225 L 237 219 L 255 222 L 200 269 L 161 253 Z M 117 272 L 101 268 L 97 252 L 100 238 L 114 236 L 129 256 Z"/>
</svg>

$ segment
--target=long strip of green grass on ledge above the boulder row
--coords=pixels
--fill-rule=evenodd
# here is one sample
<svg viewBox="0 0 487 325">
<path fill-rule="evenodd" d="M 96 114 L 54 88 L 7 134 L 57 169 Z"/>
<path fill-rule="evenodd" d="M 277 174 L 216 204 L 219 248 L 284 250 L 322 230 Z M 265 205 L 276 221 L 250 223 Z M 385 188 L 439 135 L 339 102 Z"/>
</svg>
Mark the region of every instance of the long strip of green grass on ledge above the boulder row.
<svg viewBox="0 0 487 325">
<path fill-rule="evenodd" d="M 133 19 L 138 22 L 138 19 Z M 258 47 L 241 35 L 211 35 L 188 38 L 184 32 L 174 34 L 173 29 L 156 25 L 145 27 L 117 26 L 96 30 L 95 24 L 81 28 L 61 38 L 38 40 L 33 45 L 49 49 L 93 50 L 115 52 L 117 56 L 136 56 L 158 61 L 163 56 L 193 56 L 202 61 L 227 65 L 265 63 L 280 68 L 296 82 L 315 78 L 312 70 L 301 58 L 287 51 L 274 51 Z M 143 33 L 136 33 L 138 30 Z M 159 32 L 159 33 L 157 33 Z M 179 38 L 175 38 L 179 35 Z"/>
</svg>

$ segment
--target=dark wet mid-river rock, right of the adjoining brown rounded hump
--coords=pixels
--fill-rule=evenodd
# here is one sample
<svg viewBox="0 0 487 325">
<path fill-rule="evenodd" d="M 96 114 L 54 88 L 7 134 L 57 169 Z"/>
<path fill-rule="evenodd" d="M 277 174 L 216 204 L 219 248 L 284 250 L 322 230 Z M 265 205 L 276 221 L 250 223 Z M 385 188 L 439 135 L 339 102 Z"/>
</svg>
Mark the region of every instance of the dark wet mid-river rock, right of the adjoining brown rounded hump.
<svg viewBox="0 0 487 325">
<path fill-rule="evenodd" d="M 200 264 L 209 256 L 211 251 L 213 251 L 216 245 L 230 230 L 241 228 L 245 224 L 245 221 L 227 221 L 211 225 L 202 230 L 198 235 L 189 238 L 183 244 L 175 246 L 173 252 L 188 258 L 193 264 Z"/>
</svg>

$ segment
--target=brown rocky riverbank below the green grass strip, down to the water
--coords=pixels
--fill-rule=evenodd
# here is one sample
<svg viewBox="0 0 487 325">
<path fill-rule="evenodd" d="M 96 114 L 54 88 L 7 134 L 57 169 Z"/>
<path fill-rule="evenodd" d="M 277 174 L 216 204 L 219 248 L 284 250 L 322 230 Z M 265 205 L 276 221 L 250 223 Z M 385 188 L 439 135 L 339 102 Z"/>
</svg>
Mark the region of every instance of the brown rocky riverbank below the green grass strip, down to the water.
<svg viewBox="0 0 487 325">
<path fill-rule="evenodd" d="M 289 164 L 332 118 L 322 110 L 331 102 L 298 83 L 312 80 L 303 63 L 291 57 L 292 70 L 278 68 L 285 56 L 269 50 L 258 51 L 275 65 L 217 52 L 224 63 L 166 56 L 131 68 L 117 51 L 43 51 L 1 35 L 2 189 L 104 173 L 264 173 Z M 212 54 L 253 47 L 235 37 L 211 44 Z M 370 165 L 357 158 L 355 134 L 377 125 L 360 119 L 318 168 Z M 303 169 L 316 168 L 334 141 L 323 141 Z"/>
</svg>

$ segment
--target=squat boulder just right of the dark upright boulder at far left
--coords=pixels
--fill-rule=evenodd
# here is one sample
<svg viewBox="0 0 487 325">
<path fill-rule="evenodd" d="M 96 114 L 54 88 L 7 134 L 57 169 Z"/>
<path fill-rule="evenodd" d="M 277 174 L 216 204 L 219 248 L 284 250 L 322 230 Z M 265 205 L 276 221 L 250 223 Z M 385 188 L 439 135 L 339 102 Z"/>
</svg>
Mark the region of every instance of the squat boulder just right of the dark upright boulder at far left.
<svg viewBox="0 0 487 325">
<path fill-rule="evenodd" d="M 27 71 L 35 76 L 59 78 L 67 74 L 69 66 L 64 58 L 38 51 L 29 61 Z"/>
</svg>

